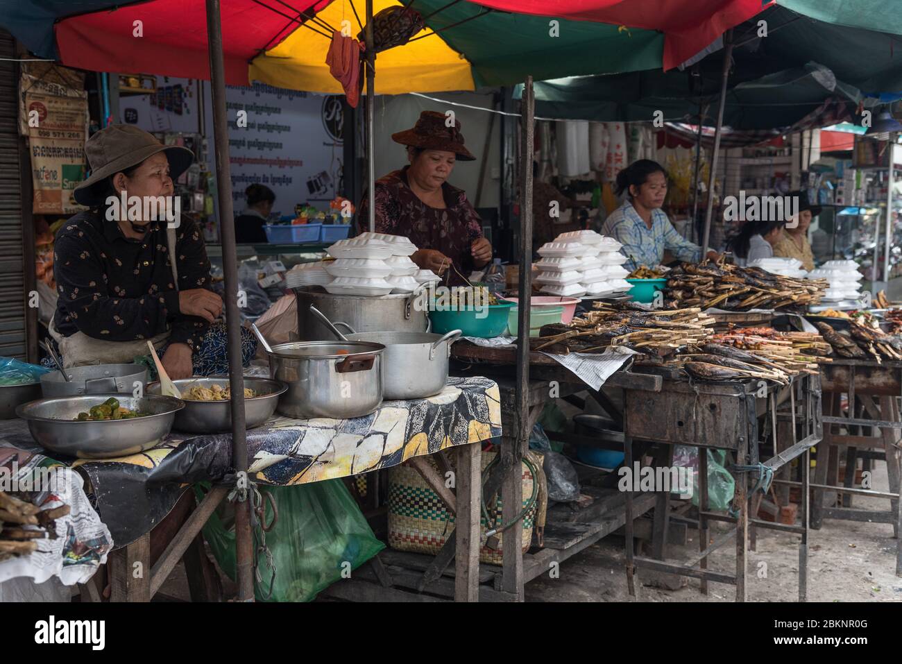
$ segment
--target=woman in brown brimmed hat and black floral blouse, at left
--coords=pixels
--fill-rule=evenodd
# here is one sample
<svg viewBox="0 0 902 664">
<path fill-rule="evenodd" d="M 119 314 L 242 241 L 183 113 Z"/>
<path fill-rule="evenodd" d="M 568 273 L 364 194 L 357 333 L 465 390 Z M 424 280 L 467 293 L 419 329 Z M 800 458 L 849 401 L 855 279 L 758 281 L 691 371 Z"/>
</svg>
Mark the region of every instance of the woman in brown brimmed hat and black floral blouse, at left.
<svg viewBox="0 0 902 664">
<path fill-rule="evenodd" d="M 63 364 L 129 363 L 149 355 L 149 339 L 173 380 L 227 374 L 225 325 L 214 324 L 223 302 L 210 290 L 203 235 L 171 215 L 172 181 L 194 155 L 127 124 L 91 136 L 85 153 L 91 176 L 73 195 L 90 209 L 61 226 L 54 245 L 60 298 L 50 331 Z M 242 337 L 246 365 L 256 340 L 249 330 Z"/>
</svg>

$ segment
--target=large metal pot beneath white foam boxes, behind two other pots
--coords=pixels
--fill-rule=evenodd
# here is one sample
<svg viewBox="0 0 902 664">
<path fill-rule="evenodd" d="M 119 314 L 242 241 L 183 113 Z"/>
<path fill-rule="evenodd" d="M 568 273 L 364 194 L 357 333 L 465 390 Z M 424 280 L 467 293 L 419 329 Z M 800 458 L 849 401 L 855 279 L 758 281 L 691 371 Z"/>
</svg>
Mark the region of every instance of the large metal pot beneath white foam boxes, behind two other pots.
<svg viewBox="0 0 902 664">
<path fill-rule="evenodd" d="M 333 341 L 335 336 L 318 318 L 310 314 L 310 305 L 333 321 L 341 321 L 357 332 L 428 332 L 426 307 L 418 306 L 417 294 L 333 295 L 315 286 L 294 289 L 298 300 L 298 332 L 307 341 Z"/>
</svg>

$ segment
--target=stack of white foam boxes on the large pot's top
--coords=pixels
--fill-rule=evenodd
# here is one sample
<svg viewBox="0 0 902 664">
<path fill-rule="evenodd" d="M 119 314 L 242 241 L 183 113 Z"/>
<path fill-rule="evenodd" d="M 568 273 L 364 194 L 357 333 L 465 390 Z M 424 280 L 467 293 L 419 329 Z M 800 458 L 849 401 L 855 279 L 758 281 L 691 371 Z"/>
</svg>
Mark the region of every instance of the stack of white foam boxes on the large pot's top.
<svg viewBox="0 0 902 664">
<path fill-rule="evenodd" d="M 362 233 L 339 240 L 327 249 L 336 260 L 325 265 L 333 281 L 323 286 L 328 292 L 341 295 L 379 296 L 416 291 L 420 283 L 430 281 L 414 278 L 419 266 L 410 260 L 410 254 L 416 251 L 417 246 L 400 235 Z"/>
</svg>

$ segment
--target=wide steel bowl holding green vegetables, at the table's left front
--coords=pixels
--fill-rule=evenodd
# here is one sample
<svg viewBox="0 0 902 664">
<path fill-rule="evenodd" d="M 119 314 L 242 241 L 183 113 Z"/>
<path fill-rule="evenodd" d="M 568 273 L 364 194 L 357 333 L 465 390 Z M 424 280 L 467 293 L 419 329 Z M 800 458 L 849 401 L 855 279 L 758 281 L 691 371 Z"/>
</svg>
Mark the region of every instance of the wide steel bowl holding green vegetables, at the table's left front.
<svg viewBox="0 0 902 664">
<path fill-rule="evenodd" d="M 131 420 L 74 420 L 79 412 L 90 410 L 110 397 L 118 399 L 124 408 L 149 414 Z M 145 394 L 137 399 L 108 392 L 23 403 L 15 414 L 28 422 L 32 438 L 51 452 L 97 459 L 125 457 L 157 445 L 169 434 L 175 414 L 184 407 L 185 402 L 180 399 L 157 394 Z"/>
</svg>

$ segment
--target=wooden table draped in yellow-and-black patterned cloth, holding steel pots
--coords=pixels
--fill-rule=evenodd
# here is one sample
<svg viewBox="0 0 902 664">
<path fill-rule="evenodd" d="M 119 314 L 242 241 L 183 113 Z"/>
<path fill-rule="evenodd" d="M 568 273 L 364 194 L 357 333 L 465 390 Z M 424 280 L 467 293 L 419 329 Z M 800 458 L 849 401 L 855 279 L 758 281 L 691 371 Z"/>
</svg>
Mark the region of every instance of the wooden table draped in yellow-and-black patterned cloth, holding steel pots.
<svg viewBox="0 0 902 664">
<path fill-rule="evenodd" d="M 501 422 L 498 385 L 482 377 L 450 379 L 442 392 L 428 399 L 384 401 L 363 418 L 290 420 L 275 416 L 247 432 L 251 479 L 261 490 L 266 484 L 308 484 L 454 450 L 456 495 L 440 494 L 457 517 L 453 595 L 458 601 L 476 601 L 481 449 L 484 440 L 501 434 Z M 461 423 L 465 426 L 459 426 Z M 111 554 L 112 601 L 150 601 L 186 555 L 189 576 L 210 579 L 211 570 L 200 559 L 205 558 L 201 529 L 235 487 L 231 438 L 231 434 L 192 438 L 173 432 L 157 447 L 131 457 L 63 462 L 86 478 L 97 512 L 118 545 Z M 0 447 L 42 451 L 23 420 L 0 425 Z M 213 487 L 194 507 L 193 496 L 186 498 L 185 494 L 191 493 L 191 484 L 201 481 L 212 482 Z M 157 530 L 160 525 L 163 528 Z M 157 537 L 152 538 L 152 531 Z M 391 595 L 391 575 L 381 561 L 374 560 L 382 588 Z M 215 590 L 201 581 L 192 580 L 192 598 L 216 598 Z M 349 578 L 324 592 L 367 600 L 373 599 L 370 586 L 362 579 Z M 100 601 L 96 585 L 86 585 L 85 591 L 86 601 Z"/>
</svg>

